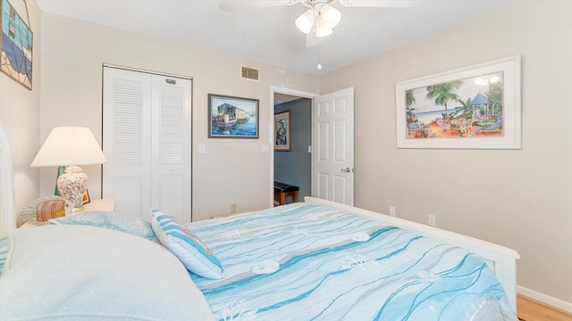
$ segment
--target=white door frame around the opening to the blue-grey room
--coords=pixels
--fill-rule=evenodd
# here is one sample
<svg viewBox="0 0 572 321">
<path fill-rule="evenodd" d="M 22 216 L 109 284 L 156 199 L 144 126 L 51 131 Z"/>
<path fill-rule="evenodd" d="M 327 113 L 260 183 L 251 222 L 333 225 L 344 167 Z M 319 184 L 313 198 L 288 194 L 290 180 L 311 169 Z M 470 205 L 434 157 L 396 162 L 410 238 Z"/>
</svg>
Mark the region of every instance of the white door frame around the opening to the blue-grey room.
<svg viewBox="0 0 572 321">
<path fill-rule="evenodd" d="M 284 95 L 295 95 L 299 96 L 300 98 L 309 98 L 312 100 L 312 124 L 314 124 L 314 101 L 316 97 L 319 97 L 319 94 L 315 93 L 308 93 L 300 90 L 284 88 L 280 86 L 270 86 L 270 112 L 269 114 L 269 121 L 268 121 L 268 143 L 270 144 L 270 181 L 268 182 L 268 193 L 269 197 L 268 200 L 268 208 L 272 208 L 274 206 L 274 94 L 284 94 Z M 313 135 L 314 128 L 312 128 Z M 314 177 L 314 157 L 312 157 L 312 169 L 311 175 Z M 311 179 L 311 178 L 310 178 Z"/>
</svg>

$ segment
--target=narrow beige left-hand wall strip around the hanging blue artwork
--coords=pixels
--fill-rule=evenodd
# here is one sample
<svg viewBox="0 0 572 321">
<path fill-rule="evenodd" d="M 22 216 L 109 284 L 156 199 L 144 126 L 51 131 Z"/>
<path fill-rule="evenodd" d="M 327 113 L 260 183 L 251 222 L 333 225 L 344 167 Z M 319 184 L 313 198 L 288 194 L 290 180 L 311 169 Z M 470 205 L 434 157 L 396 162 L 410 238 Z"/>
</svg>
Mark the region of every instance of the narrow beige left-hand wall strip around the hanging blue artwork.
<svg viewBox="0 0 572 321">
<path fill-rule="evenodd" d="M 0 73 L 0 119 L 12 156 L 16 191 L 14 210 L 20 213 L 22 207 L 39 195 L 39 170 L 30 168 L 29 164 L 39 149 L 41 30 L 36 2 L 28 2 L 28 15 L 23 1 L 10 3 L 24 21 L 29 16 L 29 28 L 33 33 L 32 90 Z"/>
</svg>

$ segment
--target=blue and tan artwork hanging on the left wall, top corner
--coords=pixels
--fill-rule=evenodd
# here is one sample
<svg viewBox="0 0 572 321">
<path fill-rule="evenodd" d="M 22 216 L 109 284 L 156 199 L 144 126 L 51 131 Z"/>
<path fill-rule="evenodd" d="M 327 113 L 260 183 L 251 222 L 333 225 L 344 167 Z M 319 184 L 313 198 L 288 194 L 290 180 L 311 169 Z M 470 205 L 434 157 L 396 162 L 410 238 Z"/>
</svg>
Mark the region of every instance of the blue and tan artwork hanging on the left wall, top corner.
<svg viewBox="0 0 572 321">
<path fill-rule="evenodd" d="M 25 4 L 25 2 L 24 2 Z M 26 8 L 28 10 L 28 8 Z M 32 90 L 32 31 L 8 0 L 0 0 L 2 13 L 2 64 L 0 70 Z M 28 14 L 28 12 L 26 12 Z"/>
</svg>

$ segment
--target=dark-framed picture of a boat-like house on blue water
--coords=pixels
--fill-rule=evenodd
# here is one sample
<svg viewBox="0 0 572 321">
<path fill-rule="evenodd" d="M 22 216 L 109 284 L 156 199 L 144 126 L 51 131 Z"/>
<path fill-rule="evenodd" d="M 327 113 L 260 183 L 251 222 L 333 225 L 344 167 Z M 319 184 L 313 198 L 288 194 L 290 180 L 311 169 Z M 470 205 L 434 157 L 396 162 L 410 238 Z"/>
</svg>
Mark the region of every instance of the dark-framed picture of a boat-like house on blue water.
<svg viewBox="0 0 572 321">
<path fill-rule="evenodd" d="M 208 94 L 209 138 L 258 138 L 258 100 Z"/>
</svg>

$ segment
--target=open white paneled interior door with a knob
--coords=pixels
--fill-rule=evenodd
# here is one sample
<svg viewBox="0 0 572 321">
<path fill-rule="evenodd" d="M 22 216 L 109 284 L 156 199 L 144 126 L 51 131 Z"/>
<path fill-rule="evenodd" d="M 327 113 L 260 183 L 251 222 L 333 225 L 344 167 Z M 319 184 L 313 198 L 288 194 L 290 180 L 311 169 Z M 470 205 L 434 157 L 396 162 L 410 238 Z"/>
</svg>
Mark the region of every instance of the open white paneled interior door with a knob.
<svg viewBox="0 0 572 321">
<path fill-rule="evenodd" d="M 312 195 L 354 205 L 354 88 L 315 99 Z"/>
</svg>

